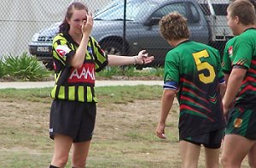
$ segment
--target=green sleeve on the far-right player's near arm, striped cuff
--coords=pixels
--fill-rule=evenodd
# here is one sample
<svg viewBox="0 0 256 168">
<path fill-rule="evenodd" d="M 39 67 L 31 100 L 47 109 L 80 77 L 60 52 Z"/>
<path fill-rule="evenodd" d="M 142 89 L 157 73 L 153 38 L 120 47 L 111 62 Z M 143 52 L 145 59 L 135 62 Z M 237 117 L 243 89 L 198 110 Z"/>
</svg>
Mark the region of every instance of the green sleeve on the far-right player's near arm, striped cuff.
<svg viewBox="0 0 256 168">
<path fill-rule="evenodd" d="M 253 46 L 242 37 L 243 36 L 239 36 L 234 43 L 233 51 L 235 59 L 232 66 L 249 69 L 252 61 Z"/>
</svg>

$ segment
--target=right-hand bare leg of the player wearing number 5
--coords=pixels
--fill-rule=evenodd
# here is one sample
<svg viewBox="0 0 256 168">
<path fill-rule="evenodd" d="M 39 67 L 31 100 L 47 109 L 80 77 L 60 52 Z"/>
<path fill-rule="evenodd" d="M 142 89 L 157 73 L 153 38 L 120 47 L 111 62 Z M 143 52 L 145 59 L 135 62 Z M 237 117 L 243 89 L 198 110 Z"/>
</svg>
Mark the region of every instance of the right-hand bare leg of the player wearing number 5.
<svg viewBox="0 0 256 168">
<path fill-rule="evenodd" d="M 220 148 L 212 149 L 205 148 L 206 153 L 206 167 L 207 168 L 218 168 L 218 159 L 219 159 L 219 150 Z"/>
</svg>

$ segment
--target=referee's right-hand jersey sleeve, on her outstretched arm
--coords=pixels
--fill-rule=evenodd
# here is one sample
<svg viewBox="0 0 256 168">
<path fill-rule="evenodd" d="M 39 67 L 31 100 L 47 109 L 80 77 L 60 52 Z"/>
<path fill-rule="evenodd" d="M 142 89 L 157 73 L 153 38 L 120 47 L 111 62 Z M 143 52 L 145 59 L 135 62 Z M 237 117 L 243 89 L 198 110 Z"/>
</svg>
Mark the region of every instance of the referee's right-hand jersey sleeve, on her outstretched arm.
<svg viewBox="0 0 256 168">
<path fill-rule="evenodd" d="M 91 37 L 91 42 L 95 54 L 96 72 L 99 72 L 108 65 L 108 54 L 102 50 L 99 43 L 93 37 Z"/>
</svg>

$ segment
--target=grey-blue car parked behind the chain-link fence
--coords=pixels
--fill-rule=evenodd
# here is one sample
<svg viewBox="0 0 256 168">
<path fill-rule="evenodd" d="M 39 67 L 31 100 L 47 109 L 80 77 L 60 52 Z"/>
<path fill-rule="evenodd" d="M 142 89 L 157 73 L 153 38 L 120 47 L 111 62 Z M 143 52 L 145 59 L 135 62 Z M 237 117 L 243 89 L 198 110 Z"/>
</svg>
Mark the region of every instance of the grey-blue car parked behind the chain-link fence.
<svg viewBox="0 0 256 168">
<path fill-rule="evenodd" d="M 127 0 L 126 5 L 118 0 L 97 11 L 91 36 L 108 54 L 136 55 L 146 49 L 154 55 L 154 62 L 148 65 L 162 66 L 166 53 L 172 48 L 160 36 L 158 23 L 164 15 L 174 11 L 188 19 L 191 40 L 209 44 L 212 35 L 217 34 L 211 32 L 206 16 L 195 0 Z M 39 31 L 29 44 L 30 53 L 49 66 L 52 65 L 52 39 L 60 24 Z M 226 36 L 226 31 L 224 33 Z"/>
</svg>

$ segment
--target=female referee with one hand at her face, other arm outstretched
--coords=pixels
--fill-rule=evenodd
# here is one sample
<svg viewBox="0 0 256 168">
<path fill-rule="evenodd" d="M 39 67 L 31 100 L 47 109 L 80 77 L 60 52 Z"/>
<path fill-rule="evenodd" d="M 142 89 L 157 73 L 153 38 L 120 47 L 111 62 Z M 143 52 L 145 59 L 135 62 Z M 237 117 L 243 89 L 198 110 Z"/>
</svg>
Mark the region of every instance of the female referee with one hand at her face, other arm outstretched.
<svg viewBox="0 0 256 168">
<path fill-rule="evenodd" d="M 137 56 L 107 55 L 90 36 L 92 15 L 79 2 L 70 3 L 53 40 L 55 87 L 49 116 L 49 137 L 55 152 L 49 168 L 64 167 L 73 146 L 72 166 L 85 167 L 96 120 L 95 72 L 107 65 L 148 64 L 145 50 Z"/>
</svg>

